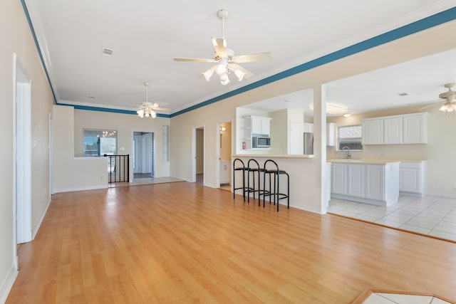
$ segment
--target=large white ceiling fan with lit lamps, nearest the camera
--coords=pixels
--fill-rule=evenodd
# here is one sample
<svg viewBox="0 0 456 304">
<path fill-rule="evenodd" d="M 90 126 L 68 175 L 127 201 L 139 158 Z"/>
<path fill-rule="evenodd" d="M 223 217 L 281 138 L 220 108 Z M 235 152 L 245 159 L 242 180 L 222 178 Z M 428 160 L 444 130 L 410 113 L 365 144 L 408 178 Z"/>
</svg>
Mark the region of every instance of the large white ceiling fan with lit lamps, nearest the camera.
<svg viewBox="0 0 456 304">
<path fill-rule="evenodd" d="M 229 11 L 221 9 L 217 11 L 217 17 L 222 19 L 222 38 L 212 37 L 212 44 L 214 45 L 214 53 L 212 58 L 174 58 L 175 61 L 195 61 L 195 62 L 209 62 L 217 63 L 212 65 L 209 70 L 202 73 L 200 77 L 208 80 L 214 73 L 220 77 L 220 83 L 227 85 L 229 83 L 228 75 L 234 73 L 239 81 L 244 78 L 249 78 L 254 75 L 249 70 L 242 68 L 238 63 L 247 63 L 253 61 L 269 61 L 272 60 L 271 53 L 255 53 L 250 55 L 235 56 L 231 48 L 227 48 L 227 41 L 225 39 L 225 21 L 229 16 Z"/>
</svg>

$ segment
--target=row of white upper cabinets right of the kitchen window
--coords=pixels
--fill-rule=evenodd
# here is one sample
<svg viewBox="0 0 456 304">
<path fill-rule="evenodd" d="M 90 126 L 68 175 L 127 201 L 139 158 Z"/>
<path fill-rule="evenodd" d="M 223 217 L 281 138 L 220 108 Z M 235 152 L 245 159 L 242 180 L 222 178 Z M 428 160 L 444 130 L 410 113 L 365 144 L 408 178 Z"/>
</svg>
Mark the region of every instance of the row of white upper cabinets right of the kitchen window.
<svg viewBox="0 0 456 304">
<path fill-rule="evenodd" d="M 427 144 L 427 113 L 363 120 L 363 145 Z"/>
</svg>

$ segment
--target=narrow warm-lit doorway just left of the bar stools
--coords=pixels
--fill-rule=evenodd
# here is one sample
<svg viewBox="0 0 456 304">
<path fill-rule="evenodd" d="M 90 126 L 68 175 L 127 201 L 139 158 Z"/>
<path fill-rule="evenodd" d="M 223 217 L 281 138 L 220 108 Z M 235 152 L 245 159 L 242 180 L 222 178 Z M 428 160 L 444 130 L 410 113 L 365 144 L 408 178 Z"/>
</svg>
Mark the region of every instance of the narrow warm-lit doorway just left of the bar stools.
<svg viewBox="0 0 456 304">
<path fill-rule="evenodd" d="M 232 122 L 219 124 L 219 187 L 231 191 Z"/>
</svg>

